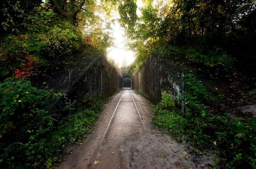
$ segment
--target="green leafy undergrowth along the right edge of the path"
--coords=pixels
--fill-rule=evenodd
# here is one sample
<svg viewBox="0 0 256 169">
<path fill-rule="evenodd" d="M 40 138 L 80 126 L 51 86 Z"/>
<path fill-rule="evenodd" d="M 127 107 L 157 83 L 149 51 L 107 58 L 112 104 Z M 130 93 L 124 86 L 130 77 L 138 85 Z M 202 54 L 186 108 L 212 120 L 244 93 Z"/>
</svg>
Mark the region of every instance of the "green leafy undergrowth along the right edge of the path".
<svg viewBox="0 0 256 169">
<path fill-rule="evenodd" d="M 195 148 L 215 150 L 216 162 L 228 169 L 256 168 L 256 118 L 231 119 L 228 112 L 212 111 L 210 105 L 219 104 L 195 76 L 184 76 L 185 113 L 176 108 L 176 100 L 162 93 L 162 100 L 154 107 L 153 121 L 166 128 L 179 142 L 190 142 Z"/>
</svg>

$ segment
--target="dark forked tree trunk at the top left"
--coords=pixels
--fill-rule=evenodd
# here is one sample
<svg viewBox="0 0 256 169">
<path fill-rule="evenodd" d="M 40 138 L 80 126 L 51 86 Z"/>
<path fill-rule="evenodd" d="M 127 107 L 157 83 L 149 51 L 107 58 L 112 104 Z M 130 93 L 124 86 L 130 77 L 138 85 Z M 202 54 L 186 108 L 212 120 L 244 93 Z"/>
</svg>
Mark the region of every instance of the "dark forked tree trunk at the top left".
<svg viewBox="0 0 256 169">
<path fill-rule="evenodd" d="M 79 13 L 85 4 L 85 0 L 69 0 L 67 4 L 68 9 L 64 10 L 61 6 L 60 0 L 52 0 L 58 8 L 58 11 L 69 20 L 70 24 L 75 25 L 77 20 L 77 13 Z"/>
</svg>

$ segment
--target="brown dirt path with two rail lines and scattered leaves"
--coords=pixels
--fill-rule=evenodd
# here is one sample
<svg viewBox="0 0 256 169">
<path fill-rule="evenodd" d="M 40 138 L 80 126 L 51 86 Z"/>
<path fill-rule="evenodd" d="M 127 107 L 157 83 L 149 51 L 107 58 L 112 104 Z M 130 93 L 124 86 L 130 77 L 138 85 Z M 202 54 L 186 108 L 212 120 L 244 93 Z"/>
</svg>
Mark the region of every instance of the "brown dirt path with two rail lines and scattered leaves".
<svg viewBox="0 0 256 169">
<path fill-rule="evenodd" d="M 55 169 L 207 169 L 212 156 L 190 154 L 187 144 L 151 124 L 150 103 L 124 89 L 105 105 L 95 130 Z"/>
</svg>

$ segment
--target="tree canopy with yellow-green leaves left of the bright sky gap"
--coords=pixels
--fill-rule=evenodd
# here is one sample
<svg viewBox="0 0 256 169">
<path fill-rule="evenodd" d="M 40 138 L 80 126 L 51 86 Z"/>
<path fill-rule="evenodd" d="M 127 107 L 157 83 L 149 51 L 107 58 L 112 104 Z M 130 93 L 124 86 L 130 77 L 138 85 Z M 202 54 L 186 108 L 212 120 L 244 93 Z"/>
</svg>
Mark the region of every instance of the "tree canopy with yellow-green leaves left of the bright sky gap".
<svg viewBox="0 0 256 169">
<path fill-rule="evenodd" d="M 104 10 L 96 0 L 8 0 L 1 6 L 0 79 L 25 69 L 27 56 L 43 67 L 85 46 L 105 53 L 111 44 L 108 18 L 98 16 Z"/>
</svg>

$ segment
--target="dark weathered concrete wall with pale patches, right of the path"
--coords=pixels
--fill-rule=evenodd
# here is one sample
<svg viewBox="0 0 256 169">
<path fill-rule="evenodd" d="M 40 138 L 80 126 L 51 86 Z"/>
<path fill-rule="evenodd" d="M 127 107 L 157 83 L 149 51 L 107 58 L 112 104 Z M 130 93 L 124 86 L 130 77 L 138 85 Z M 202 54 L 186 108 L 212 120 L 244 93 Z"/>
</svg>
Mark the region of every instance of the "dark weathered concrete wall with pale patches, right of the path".
<svg viewBox="0 0 256 169">
<path fill-rule="evenodd" d="M 169 67 L 170 65 L 166 65 L 155 54 L 151 54 L 135 73 L 133 89 L 153 103 L 160 101 L 163 91 L 167 91 L 173 98 L 179 97 L 182 69 L 177 66 L 170 70 Z"/>
</svg>

